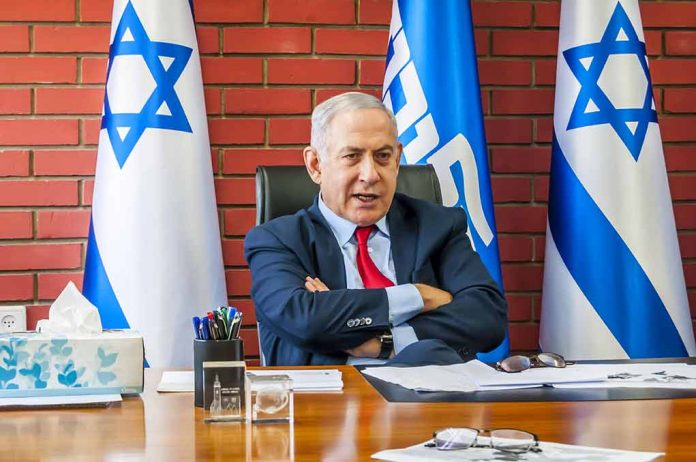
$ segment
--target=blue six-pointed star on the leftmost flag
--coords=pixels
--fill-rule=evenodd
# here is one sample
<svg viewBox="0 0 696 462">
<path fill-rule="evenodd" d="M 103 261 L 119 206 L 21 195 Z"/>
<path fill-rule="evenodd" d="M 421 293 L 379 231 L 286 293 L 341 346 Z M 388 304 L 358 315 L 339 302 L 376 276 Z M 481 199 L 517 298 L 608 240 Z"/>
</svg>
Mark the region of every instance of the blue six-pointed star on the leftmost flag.
<svg viewBox="0 0 696 462">
<path fill-rule="evenodd" d="M 184 108 L 174 90 L 174 85 L 186 68 L 191 52 L 191 48 L 182 45 L 150 40 L 135 8 L 128 2 L 109 49 L 107 82 L 114 58 L 139 55 L 152 74 L 156 87 L 139 113 L 113 112 L 109 104 L 109 94 L 105 92 L 101 128 L 106 129 L 121 168 L 146 129 L 192 132 Z"/>
</svg>

